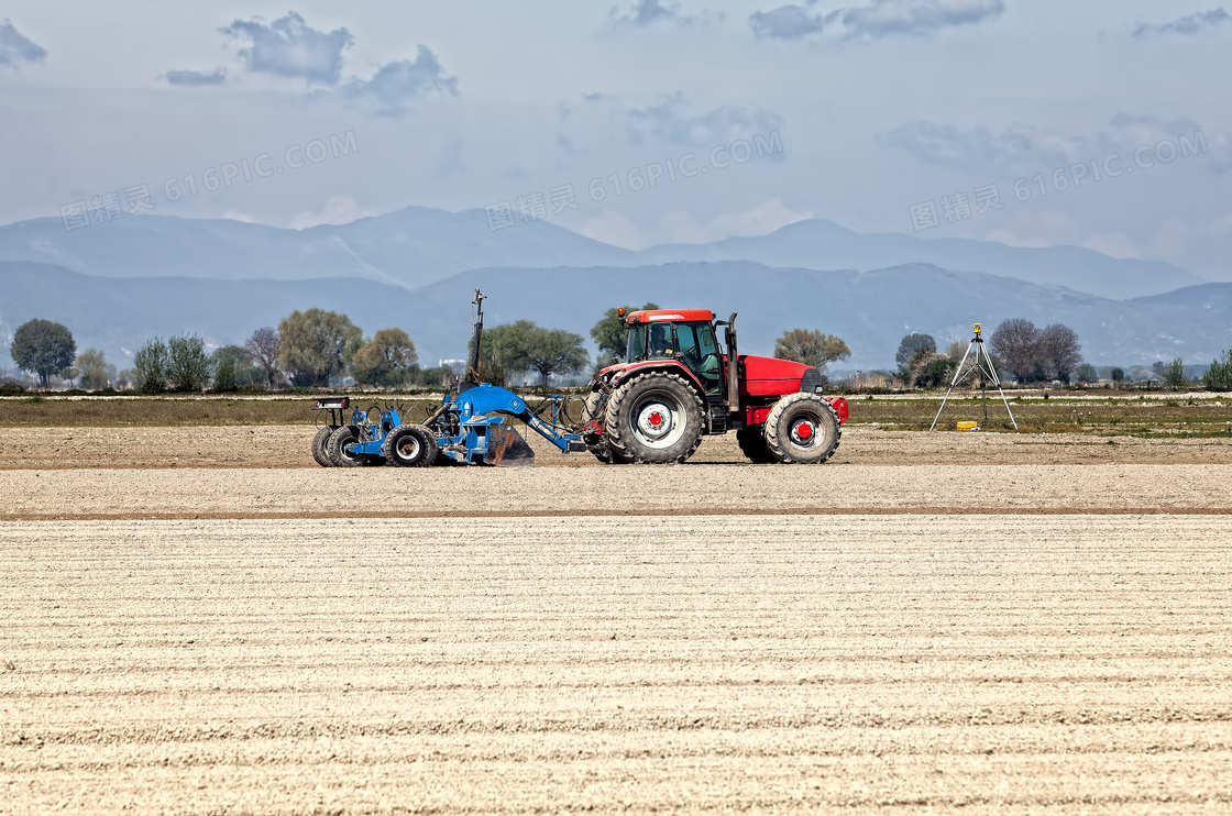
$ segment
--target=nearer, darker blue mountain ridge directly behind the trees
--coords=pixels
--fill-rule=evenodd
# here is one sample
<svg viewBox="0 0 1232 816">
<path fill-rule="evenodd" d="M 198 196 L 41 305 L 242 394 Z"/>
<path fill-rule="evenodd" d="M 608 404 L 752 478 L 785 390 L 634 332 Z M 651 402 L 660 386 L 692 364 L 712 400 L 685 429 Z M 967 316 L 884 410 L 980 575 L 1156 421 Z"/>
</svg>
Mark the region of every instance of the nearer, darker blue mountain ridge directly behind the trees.
<svg viewBox="0 0 1232 816">
<path fill-rule="evenodd" d="M 404 328 L 421 360 L 434 365 L 464 356 L 477 287 L 488 295 L 488 325 L 525 318 L 589 340 L 590 327 L 607 308 L 652 300 L 669 308 L 710 308 L 724 318 L 739 312 L 748 353 L 770 354 L 775 338 L 790 328 L 838 334 L 853 351 L 844 367 L 854 369 L 890 367 L 908 332 L 933 334 L 944 346 L 970 339 L 975 322 L 992 330 L 1009 317 L 1066 323 L 1078 332 L 1088 360 L 1120 365 L 1177 356 L 1210 362 L 1228 348 L 1232 327 L 1232 284 L 1111 301 L 928 264 L 869 272 L 748 261 L 483 269 L 410 291 L 356 279 L 108 279 L 46 264 L 0 263 L 0 339 L 33 317 L 58 320 L 73 330 L 79 348 L 101 348 L 123 367 L 131 360 L 124 350 L 132 353 L 154 335 L 196 333 L 211 344 L 240 343 L 292 309 L 317 306 L 345 312 L 367 334 Z"/>
</svg>

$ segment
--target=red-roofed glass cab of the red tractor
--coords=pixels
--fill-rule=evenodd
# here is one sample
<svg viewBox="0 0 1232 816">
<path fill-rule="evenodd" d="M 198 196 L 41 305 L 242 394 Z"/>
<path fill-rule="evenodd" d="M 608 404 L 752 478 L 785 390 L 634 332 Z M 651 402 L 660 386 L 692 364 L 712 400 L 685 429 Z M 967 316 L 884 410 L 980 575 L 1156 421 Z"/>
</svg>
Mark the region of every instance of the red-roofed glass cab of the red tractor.
<svg viewBox="0 0 1232 816">
<path fill-rule="evenodd" d="M 701 382 L 707 397 L 723 393 L 723 354 L 715 339 L 715 313 L 708 309 L 632 312 L 627 362 L 675 360 Z"/>
</svg>

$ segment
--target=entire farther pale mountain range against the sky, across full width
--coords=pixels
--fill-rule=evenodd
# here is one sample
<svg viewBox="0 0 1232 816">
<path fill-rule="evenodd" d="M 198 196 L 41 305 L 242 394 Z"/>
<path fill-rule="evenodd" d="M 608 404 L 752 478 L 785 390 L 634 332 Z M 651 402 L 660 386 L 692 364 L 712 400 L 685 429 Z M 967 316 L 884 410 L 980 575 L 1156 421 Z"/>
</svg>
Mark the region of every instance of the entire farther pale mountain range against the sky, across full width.
<svg viewBox="0 0 1232 816">
<path fill-rule="evenodd" d="M 961 238 L 860 234 L 802 221 L 759 238 L 610 247 L 549 221 L 493 231 L 483 211 L 407 207 L 342 226 L 294 231 L 224 219 L 123 216 L 65 232 L 57 218 L 0 227 L 0 261 L 54 264 L 106 277 L 308 280 L 361 277 L 419 288 L 484 267 L 655 266 L 747 260 L 771 267 L 869 272 L 925 263 L 1124 300 L 1206 282 L 1157 261 L 1077 247 L 1031 249 Z"/>
</svg>

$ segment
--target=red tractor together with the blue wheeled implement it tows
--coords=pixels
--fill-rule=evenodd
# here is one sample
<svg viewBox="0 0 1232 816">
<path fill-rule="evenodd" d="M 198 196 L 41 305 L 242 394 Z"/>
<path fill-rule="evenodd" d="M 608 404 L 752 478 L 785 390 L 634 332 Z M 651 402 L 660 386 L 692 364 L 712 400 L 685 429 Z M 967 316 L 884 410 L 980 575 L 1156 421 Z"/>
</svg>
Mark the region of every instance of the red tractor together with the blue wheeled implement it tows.
<svg viewBox="0 0 1232 816">
<path fill-rule="evenodd" d="M 563 396 L 531 407 L 508 388 L 479 382 L 483 297 L 476 291 L 467 375 L 423 422 L 409 422 L 397 402 L 367 409 L 349 397 L 313 403 L 322 425 L 313 439 L 319 465 L 532 465 L 535 454 L 514 419 L 563 454 L 590 451 L 610 465 L 683 462 L 702 436 L 728 430 L 758 463 L 819 463 L 838 447 L 846 399 L 823 397 L 824 378 L 812 366 L 739 355 L 736 314 L 716 320 L 706 309 L 620 309 L 626 361 L 594 376 L 580 419 L 572 420 Z M 715 338 L 721 325 L 726 353 Z"/>
</svg>

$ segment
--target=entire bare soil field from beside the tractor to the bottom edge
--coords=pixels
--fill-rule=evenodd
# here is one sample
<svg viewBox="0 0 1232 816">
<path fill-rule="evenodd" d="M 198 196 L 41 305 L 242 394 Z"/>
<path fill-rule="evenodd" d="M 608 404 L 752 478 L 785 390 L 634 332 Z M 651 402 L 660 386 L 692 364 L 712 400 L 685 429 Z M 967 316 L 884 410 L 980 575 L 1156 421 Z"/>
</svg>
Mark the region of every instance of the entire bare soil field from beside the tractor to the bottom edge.
<svg viewBox="0 0 1232 816">
<path fill-rule="evenodd" d="M 10 430 L 0 814 L 1232 809 L 1232 439 L 310 434 Z"/>
</svg>

